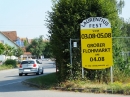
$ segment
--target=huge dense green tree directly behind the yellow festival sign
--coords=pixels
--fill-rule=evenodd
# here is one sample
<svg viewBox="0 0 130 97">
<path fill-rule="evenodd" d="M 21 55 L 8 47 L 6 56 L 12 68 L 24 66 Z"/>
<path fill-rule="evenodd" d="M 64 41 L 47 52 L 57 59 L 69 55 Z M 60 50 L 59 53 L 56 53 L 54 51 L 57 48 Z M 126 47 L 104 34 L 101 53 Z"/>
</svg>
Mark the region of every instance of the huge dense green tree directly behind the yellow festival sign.
<svg viewBox="0 0 130 97">
<path fill-rule="evenodd" d="M 122 3 L 121 3 L 122 2 Z M 120 4 L 119 4 L 120 3 Z M 50 34 L 50 44 L 56 58 L 56 65 L 59 69 L 60 78 L 67 78 L 70 75 L 70 68 L 73 70 L 73 77 L 81 76 L 81 51 L 80 42 L 78 48 L 73 49 L 73 67 L 70 64 L 69 40 L 80 39 L 80 23 L 89 17 L 108 18 L 112 26 L 113 37 L 121 35 L 120 27 L 122 22 L 118 16 L 119 10 L 123 7 L 123 1 L 116 0 L 53 0 L 52 12 L 48 12 L 47 27 Z M 119 40 L 113 41 L 114 63 L 118 64 L 120 59 L 121 45 Z M 117 59 L 116 57 L 119 56 Z M 68 66 L 70 66 L 68 68 Z M 95 79 L 96 74 L 103 74 L 104 71 L 85 70 L 86 76 Z M 100 76 L 98 78 L 101 78 Z"/>
</svg>

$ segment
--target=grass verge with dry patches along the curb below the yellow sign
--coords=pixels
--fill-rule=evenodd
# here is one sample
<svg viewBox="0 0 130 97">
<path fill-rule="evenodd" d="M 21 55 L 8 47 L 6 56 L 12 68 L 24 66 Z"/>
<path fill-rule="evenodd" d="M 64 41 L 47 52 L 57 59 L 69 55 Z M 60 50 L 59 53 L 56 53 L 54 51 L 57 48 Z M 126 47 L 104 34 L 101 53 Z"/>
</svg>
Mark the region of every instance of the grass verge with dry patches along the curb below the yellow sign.
<svg viewBox="0 0 130 97">
<path fill-rule="evenodd" d="M 130 95 L 130 83 L 122 84 L 114 82 L 112 84 L 99 84 L 88 80 L 67 80 L 59 83 L 56 73 L 27 79 L 26 82 L 37 84 L 42 89 Z"/>
</svg>

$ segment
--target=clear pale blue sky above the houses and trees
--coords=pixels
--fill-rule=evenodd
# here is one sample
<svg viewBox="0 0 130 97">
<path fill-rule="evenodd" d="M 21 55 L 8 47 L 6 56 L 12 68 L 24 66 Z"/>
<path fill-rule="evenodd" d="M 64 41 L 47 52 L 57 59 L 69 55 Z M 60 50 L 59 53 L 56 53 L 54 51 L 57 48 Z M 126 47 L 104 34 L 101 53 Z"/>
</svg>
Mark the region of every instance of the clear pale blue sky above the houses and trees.
<svg viewBox="0 0 130 97">
<path fill-rule="evenodd" d="M 124 0 L 121 17 L 130 18 L 130 0 Z M 47 11 L 51 10 L 51 0 L 0 0 L 0 31 L 16 31 L 21 38 L 47 38 L 45 26 Z"/>
</svg>

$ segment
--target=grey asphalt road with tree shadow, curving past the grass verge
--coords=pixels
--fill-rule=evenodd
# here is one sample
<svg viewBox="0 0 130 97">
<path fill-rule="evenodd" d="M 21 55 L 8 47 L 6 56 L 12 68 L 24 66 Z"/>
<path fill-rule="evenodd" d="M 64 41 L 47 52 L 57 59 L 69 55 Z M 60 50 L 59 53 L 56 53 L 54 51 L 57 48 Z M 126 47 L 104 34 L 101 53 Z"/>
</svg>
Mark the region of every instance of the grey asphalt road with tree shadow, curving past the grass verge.
<svg viewBox="0 0 130 97">
<path fill-rule="evenodd" d="M 55 72 L 53 61 L 43 61 L 44 76 Z M 125 95 L 93 94 L 79 92 L 65 92 L 56 90 L 40 90 L 21 83 L 25 79 L 38 75 L 18 76 L 18 69 L 0 71 L 0 97 L 130 97 Z"/>
</svg>

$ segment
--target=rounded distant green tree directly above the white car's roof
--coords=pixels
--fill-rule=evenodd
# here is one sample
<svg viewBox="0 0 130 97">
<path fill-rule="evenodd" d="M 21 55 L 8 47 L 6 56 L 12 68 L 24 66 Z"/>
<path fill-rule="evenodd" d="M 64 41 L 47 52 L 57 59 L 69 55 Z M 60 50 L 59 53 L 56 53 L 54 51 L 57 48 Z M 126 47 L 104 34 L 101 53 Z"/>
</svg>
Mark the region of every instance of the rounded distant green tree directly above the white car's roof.
<svg viewBox="0 0 130 97">
<path fill-rule="evenodd" d="M 42 36 L 33 39 L 32 43 L 27 47 L 27 51 L 31 52 L 36 58 L 40 58 L 43 55 L 45 43 Z"/>
</svg>

